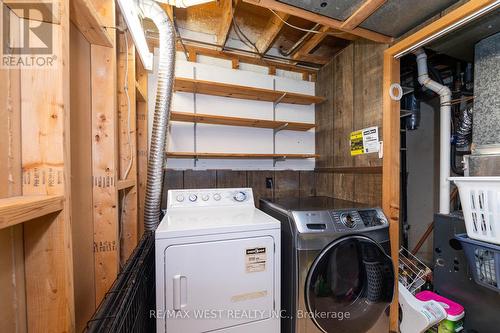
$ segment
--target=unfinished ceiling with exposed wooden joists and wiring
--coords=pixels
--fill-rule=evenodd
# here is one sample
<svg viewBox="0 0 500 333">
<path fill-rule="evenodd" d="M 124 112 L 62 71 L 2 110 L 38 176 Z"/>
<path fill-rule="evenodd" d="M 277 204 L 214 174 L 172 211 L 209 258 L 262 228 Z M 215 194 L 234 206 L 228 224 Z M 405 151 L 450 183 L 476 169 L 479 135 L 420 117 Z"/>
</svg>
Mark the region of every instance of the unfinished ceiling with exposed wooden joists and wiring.
<svg viewBox="0 0 500 333">
<path fill-rule="evenodd" d="M 190 60 L 198 54 L 218 55 L 314 71 L 353 40 L 390 44 L 393 38 L 456 2 L 218 0 L 189 8 L 162 6 L 177 26 L 179 49 L 192 53 Z M 154 47 L 155 28 L 147 23 L 145 26 Z"/>
</svg>

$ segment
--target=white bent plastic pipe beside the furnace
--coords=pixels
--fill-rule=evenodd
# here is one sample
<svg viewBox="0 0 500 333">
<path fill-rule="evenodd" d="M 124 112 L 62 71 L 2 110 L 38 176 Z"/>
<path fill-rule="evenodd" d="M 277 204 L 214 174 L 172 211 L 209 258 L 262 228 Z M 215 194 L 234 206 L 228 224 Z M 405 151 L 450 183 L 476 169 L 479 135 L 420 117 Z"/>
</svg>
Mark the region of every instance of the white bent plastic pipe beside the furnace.
<svg viewBox="0 0 500 333">
<path fill-rule="evenodd" d="M 427 55 L 423 49 L 417 56 L 418 82 L 434 91 L 440 99 L 440 166 L 439 166 L 439 213 L 450 213 L 450 145 L 451 145 L 451 91 L 447 86 L 431 80 L 427 72 Z"/>
</svg>

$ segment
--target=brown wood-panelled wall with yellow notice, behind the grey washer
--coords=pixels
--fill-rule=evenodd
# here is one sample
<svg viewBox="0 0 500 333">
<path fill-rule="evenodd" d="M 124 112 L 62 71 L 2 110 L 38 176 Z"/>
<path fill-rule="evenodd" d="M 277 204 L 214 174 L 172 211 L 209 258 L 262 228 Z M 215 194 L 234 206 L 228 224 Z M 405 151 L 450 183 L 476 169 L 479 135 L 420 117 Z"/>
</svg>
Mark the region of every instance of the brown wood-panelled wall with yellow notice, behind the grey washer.
<svg viewBox="0 0 500 333">
<path fill-rule="evenodd" d="M 382 70 L 386 45 L 356 41 L 318 73 L 316 94 L 315 188 L 318 195 L 382 204 L 382 160 L 377 154 L 350 155 L 354 130 L 379 126 L 382 137 Z M 396 175 L 397 176 L 397 175 Z"/>
</svg>

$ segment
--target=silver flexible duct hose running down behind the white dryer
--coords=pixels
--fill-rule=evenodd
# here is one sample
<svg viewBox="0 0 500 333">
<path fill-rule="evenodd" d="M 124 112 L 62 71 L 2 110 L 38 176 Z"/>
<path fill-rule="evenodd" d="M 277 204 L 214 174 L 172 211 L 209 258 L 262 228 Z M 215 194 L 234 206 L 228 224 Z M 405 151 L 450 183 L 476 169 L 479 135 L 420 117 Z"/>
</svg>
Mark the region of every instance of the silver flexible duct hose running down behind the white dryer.
<svg viewBox="0 0 500 333">
<path fill-rule="evenodd" d="M 175 31 L 165 11 L 152 0 L 141 1 L 144 16 L 150 18 L 160 32 L 158 86 L 149 147 L 148 178 L 144 201 L 144 230 L 154 231 L 160 223 L 163 190 L 163 162 L 170 119 L 170 103 L 175 70 Z"/>
</svg>

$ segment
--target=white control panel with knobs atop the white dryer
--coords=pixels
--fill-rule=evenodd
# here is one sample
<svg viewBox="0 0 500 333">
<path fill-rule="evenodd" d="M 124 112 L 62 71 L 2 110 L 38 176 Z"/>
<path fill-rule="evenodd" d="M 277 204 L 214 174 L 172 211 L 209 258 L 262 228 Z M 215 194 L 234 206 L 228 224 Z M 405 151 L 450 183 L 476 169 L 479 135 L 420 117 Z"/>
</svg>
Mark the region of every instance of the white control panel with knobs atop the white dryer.
<svg viewBox="0 0 500 333">
<path fill-rule="evenodd" d="M 167 209 L 182 207 L 252 206 L 251 188 L 169 190 Z"/>
</svg>

